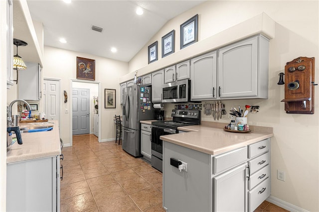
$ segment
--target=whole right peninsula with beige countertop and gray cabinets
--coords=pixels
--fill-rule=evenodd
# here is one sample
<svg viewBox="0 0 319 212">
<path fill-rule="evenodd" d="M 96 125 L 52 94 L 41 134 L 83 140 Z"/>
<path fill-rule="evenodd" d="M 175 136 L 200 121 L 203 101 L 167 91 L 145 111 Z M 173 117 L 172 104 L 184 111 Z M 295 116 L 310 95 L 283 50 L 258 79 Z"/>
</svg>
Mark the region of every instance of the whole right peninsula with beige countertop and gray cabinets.
<svg viewBox="0 0 319 212">
<path fill-rule="evenodd" d="M 254 211 L 269 197 L 272 127 L 233 133 L 220 124 L 160 136 L 166 210 Z"/>
</svg>

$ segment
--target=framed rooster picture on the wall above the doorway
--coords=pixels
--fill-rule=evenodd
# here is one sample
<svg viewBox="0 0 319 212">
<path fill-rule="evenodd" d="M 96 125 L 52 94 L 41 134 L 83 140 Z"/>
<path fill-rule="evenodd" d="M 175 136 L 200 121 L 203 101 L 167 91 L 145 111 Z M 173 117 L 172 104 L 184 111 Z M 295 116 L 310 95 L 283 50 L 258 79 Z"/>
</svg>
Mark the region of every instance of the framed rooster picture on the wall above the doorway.
<svg viewBox="0 0 319 212">
<path fill-rule="evenodd" d="M 95 80 L 95 60 L 76 57 L 76 79 Z"/>
</svg>

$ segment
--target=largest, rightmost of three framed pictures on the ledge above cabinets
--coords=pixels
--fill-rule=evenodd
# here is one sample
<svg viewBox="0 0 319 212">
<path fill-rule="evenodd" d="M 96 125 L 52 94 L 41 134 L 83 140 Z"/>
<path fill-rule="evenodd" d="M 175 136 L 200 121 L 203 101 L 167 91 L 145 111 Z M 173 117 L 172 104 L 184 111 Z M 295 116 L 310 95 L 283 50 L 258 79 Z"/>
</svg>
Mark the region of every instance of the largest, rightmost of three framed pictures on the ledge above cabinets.
<svg viewBox="0 0 319 212">
<path fill-rule="evenodd" d="M 180 49 L 198 41 L 198 14 L 180 25 Z"/>
</svg>

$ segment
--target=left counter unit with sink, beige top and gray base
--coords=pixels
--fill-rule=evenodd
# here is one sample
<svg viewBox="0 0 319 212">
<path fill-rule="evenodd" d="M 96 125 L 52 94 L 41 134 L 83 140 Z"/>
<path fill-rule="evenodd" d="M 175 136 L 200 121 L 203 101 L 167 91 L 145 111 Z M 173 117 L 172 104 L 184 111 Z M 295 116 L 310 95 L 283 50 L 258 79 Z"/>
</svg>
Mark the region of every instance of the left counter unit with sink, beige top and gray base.
<svg viewBox="0 0 319 212">
<path fill-rule="evenodd" d="M 60 210 L 58 121 L 20 123 L 19 126 L 39 125 L 53 126 L 53 129 L 21 133 L 23 144 L 15 142 L 7 151 L 6 211 Z"/>
</svg>

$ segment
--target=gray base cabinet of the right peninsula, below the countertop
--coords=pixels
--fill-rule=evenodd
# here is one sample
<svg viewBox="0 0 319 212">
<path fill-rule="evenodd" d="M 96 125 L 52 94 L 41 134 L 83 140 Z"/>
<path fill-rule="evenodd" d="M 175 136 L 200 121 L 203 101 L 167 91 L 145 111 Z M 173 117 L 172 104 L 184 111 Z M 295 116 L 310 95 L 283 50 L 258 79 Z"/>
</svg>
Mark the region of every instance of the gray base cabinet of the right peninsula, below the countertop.
<svg viewBox="0 0 319 212">
<path fill-rule="evenodd" d="M 219 155 L 163 141 L 163 207 L 174 212 L 253 212 L 271 192 L 270 139 Z M 171 165 L 187 164 L 187 171 Z"/>
</svg>

